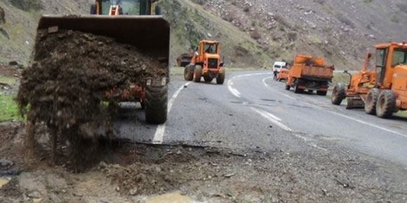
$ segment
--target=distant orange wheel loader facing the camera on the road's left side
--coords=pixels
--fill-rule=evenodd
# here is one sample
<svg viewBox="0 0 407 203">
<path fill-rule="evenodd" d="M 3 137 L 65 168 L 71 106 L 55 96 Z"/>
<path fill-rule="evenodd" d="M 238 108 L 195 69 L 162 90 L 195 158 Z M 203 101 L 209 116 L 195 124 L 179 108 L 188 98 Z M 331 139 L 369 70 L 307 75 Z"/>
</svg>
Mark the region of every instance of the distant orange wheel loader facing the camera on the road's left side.
<svg viewBox="0 0 407 203">
<path fill-rule="evenodd" d="M 185 80 L 194 80 L 195 83 L 204 77 L 205 82 L 210 83 L 216 78 L 216 83 L 223 84 L 225 81 L 225 69 L 220 59 L 220 44 L 217 41 L 201 41 L 199 52 L 196 51 L 191 62 L 185 66 Z"/>
</svg>

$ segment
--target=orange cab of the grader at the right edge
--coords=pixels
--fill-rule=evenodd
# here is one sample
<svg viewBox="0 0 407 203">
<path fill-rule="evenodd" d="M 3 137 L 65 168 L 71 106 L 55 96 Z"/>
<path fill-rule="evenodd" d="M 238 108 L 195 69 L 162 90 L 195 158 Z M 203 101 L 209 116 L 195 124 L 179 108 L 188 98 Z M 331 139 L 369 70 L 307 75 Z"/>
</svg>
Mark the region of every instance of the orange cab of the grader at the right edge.
<svg viewBox="0 0 407 203">
<path fill-rule="evenodd" d="M 376 86 L 392 87 L 394 68 L 407 65 L 406 43 L 385 43 L 376 45 Z"/>
</svg>

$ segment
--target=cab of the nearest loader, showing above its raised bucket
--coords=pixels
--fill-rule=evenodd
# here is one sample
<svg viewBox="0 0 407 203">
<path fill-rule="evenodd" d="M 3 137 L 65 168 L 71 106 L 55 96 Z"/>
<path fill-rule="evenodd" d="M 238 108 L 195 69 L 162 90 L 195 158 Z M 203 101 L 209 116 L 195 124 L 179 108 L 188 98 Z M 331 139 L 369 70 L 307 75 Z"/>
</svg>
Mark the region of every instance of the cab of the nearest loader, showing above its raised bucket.
<svg viewBox="0 0 407 203">
<path fill-rule="evenodd" d="M 91 14 L 161 15 L 161 8 L 156 2 L 156 0 L 96 0 L 91 8 Z"/>
</svg>

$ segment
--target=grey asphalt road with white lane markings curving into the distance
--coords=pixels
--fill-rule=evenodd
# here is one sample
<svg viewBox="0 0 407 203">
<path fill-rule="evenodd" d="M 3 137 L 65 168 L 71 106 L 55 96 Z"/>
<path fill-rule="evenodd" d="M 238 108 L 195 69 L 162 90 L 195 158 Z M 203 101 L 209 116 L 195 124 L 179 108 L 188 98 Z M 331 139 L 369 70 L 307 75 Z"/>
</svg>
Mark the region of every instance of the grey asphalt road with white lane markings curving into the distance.
<svg viewBox="0 0 407 203">
<path fill-rule="evenodd" d="M 146 125 L 138 104 L 126 104 L 116 128 L 123 138 L 154 144 L 299 152 L 304 143 L 319 151 L 339 145 L 407 166 L 407 119 L 368 116 L 284 86 L 267 71 L 230 72 L 224 85 L 171 78 L 165 125 Z"/>
</svg>

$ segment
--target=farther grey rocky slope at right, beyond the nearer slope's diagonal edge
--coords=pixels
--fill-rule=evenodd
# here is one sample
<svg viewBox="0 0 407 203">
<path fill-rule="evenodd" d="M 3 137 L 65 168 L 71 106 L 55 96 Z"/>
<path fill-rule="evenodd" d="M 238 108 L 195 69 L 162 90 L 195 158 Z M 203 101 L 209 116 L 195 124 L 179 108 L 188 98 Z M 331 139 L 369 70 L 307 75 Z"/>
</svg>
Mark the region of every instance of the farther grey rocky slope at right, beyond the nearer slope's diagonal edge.
<svg viewBox="0 0 407 203">
<path fill-rule="evenodd" d="M 403 0 L 193 0 L 254 38 L 273 59 L 325 57 L 359 69 L 375 43 L 406 38 Z"/>
</svg>

